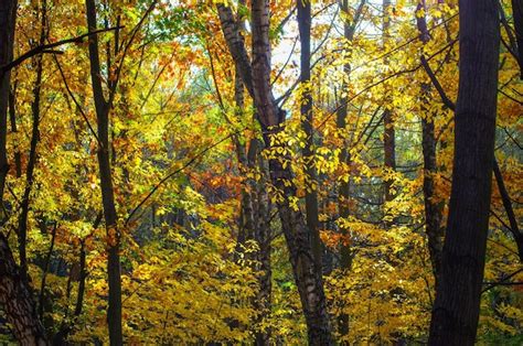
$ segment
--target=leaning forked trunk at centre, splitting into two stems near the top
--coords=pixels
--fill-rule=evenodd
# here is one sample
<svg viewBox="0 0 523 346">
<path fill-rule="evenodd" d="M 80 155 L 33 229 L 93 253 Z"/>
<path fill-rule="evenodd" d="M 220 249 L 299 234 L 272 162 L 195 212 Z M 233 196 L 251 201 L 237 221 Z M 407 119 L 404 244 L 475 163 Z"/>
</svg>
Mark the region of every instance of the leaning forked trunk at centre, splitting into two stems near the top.
<svg viewBox="0 0 523 346">
<path fill-rule="evenodd" d="M 270 136 L 281 130 L 285 111 L 278 107 L 270 84 L 269 2 L 252 2 L 253 61 L 250 63 L 244 40 L 238 31 L 231 8 L 217 4 L 222 30 L 227 47 L 254 99 L 257 119 L 262 126 L 265 148 L 271 149 Z M 292 172 L 277 160 L 269 160 L 271 184 L 285 198 L 277 201 L 279 217 L 296 285 L 308 327 L 311 345 L 330 345 L 329 315 L 321 278 L 321 268 L 313 258 L 310 234 L 300 209 L 290 206 L 289 197 L 296 196 Z"/>
</svg>

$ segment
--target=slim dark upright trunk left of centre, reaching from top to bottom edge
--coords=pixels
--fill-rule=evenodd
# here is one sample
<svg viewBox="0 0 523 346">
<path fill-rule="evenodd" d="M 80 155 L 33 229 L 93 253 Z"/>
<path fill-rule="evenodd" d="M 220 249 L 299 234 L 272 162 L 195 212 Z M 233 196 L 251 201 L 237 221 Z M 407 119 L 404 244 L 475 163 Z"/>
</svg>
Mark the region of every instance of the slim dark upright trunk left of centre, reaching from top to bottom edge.
<svg viewBox="0 0 523 346">
<path fill-rule="evenodd" d="M 96 30 L 96 6 L 94 0 L 86 0 L 88 30 Z M 109 281 L 109 304 L 107 323 L 109 325 L 110 345 L 122 345 L 121 331 L 121 269 L 120 269 L 120 234 L 117 225 L 115 195 L 109 153 L 109 102 L 104 97 L 102 87 L 102 69 L 98 52 L 98 37 L 89 37 L 90 79 L 95 99 L 96 119 L 98 125 L 98 170 L 102 188 L 102 203 L 107 230 L 107 273 Z"/>
</svg>

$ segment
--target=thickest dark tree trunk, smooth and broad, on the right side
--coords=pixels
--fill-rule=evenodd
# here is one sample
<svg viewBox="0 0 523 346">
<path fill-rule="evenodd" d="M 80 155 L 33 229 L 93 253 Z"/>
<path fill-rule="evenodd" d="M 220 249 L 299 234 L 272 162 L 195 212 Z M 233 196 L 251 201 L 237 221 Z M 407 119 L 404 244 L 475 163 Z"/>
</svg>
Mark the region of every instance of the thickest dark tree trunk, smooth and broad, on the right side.
<svg viewBox="0 0 523 346">
<path fill-rule="evenodd" d="M 492 0 L 460 0 L 455 159 L 430 345 L 473 345 L 489 227 L 500 24 Z"/>
</svg>

